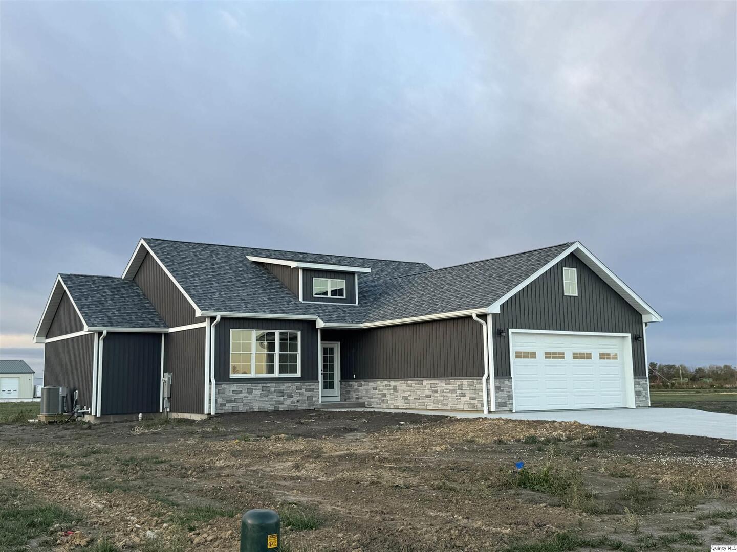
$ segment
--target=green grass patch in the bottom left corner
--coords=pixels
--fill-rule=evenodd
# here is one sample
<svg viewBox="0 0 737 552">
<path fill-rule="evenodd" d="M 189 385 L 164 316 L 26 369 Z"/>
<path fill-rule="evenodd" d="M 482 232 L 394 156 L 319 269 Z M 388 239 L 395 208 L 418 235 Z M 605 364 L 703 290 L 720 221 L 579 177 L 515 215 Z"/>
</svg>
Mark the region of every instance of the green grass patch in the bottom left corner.
<svg viewBox="0 0 737 552">
<path fill-rule="evenodd" d="M 0 549 L 20 551 L 55 523 L 71 526 L 74 513 L 55 504 L 29 503 L 15 489 L 0 488 Z"/>
</svg>

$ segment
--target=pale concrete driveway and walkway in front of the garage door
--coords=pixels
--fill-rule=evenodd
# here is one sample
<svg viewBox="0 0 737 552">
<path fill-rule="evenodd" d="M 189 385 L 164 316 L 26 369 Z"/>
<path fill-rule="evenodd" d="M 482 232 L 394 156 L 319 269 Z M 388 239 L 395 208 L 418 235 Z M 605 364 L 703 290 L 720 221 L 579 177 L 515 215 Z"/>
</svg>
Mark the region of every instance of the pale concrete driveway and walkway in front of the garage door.
<svg viewBox="0 0 737 552">
<path fill-rule="evenodd" d="M 347 409 L 346 409 L 347 410 Z M 352 409 L 353 410 L 353 409 Z M 737 414 L 719 414 L 691 408 L 621 408 L 617 410 L 576 410 L 557 412 L 516 412 L 514 414 L 478 414 L 441 410 L 393 410 L 391 408 L 356 408 L 412 414 L 442 414 L 461 418 L 511 418 L 516 420 L 555 420 L 601 425 L 605 428 L 637 429 L 680 435 L 737 439 Z"/>
</svg>

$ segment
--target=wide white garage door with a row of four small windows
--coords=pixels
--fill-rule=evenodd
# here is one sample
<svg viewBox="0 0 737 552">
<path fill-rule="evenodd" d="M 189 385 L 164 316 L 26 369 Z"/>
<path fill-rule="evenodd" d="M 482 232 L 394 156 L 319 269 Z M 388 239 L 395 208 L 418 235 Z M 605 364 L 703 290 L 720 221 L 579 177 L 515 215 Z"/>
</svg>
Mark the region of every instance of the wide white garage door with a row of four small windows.
<svg viewBox="0 0 737 552">
<path fill-rule="evenodd" d="M 509 339 L 515 411 L 627 406 L 628 339 L 526 332 Z"/>
</svg>

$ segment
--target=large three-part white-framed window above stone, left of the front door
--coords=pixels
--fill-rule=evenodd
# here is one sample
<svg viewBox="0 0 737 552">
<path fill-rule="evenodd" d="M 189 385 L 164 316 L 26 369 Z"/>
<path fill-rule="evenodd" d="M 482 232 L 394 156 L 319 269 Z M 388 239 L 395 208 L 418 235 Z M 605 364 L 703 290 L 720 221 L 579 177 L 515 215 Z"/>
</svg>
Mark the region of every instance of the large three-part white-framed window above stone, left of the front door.
<svg viewBox="0 0 737 552">
<path fill-rule="evenodd" d="M 231 378 L 300 375 L 298 330 L 231 330 Z"/>
</svg>

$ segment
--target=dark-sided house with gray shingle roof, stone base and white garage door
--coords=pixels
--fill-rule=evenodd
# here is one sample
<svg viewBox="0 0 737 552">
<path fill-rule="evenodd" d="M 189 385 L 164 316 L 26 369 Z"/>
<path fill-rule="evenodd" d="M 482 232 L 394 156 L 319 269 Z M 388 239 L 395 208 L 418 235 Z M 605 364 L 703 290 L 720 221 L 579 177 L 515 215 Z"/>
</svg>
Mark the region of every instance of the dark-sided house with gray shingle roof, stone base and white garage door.
<svg viewBox="0 0 737 552">
<path fill-rule="evenodd" d="M 122 277 L 58 275 L 35 342 L 92 417 L 635 408 L 661 320 L 578 241 L 433 270 L 143 238 Z"/>
</svg>

